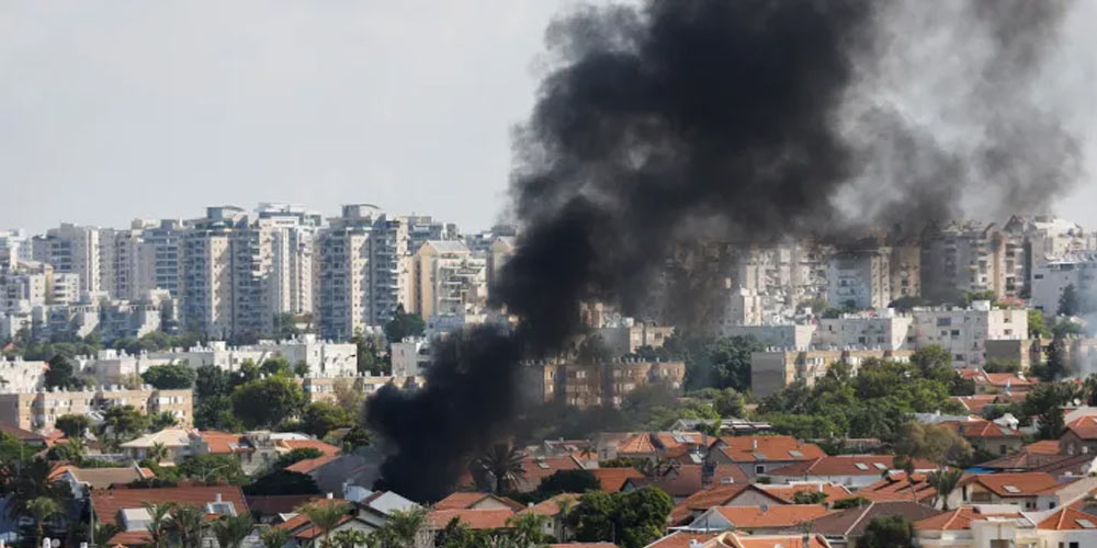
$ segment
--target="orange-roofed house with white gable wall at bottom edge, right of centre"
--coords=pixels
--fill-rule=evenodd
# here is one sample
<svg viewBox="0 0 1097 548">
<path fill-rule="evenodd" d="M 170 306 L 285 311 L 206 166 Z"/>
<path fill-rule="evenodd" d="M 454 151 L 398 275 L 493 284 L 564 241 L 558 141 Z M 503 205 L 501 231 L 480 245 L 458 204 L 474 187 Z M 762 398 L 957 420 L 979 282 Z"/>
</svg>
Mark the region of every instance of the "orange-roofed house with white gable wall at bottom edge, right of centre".
<svg viewBox="0 0 1097 548">
<path fill-rule="evenodd" d="M 713 506 L 682 528 L 702 533 L 749 530 L 766 535 L 787 532 L 829 513 L 829 510 L 818 504 Z"/>
</svg>

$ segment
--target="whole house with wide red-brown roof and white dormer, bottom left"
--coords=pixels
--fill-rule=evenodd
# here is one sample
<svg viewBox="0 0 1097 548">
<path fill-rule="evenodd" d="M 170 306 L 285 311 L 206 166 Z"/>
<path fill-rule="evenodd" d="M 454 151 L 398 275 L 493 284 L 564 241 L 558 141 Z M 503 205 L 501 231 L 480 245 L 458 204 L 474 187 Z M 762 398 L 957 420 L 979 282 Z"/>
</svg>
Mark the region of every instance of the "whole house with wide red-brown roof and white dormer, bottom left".
<svg viewBox="0 0 1097 548">
<path fill-rule="evenodd" d="M 145 546 L 149 543 L 151 522 L 145 504 L 193 505 L 212 518 L 224 515 L 247 515 L 248 504 L 236 486 L 180 484 L 172 488 L 139 488 L 93 490 L 91 506 L 95 521 L 114 525 L 120 533 L 108 540 L 109 546 Z M 205 540 L 203 541 L 205 543 Z M 203 545 L 204 546 L 204 545 Z"/>
</svg>

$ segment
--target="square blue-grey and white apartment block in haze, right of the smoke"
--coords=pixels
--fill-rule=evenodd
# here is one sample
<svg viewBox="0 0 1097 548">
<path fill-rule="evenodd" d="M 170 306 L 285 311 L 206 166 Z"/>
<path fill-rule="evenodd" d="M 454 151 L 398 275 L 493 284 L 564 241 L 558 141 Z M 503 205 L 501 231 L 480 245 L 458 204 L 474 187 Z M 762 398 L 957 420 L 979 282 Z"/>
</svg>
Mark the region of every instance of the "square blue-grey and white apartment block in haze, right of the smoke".
<svg viewBox="0 0 1097 548">
<path fill-rule="evenodd" d="M 833 255 L 827 266 L 827 302 L 856 309 L 886 308 L 892 300 L 891 249 Z"/>
</svg>

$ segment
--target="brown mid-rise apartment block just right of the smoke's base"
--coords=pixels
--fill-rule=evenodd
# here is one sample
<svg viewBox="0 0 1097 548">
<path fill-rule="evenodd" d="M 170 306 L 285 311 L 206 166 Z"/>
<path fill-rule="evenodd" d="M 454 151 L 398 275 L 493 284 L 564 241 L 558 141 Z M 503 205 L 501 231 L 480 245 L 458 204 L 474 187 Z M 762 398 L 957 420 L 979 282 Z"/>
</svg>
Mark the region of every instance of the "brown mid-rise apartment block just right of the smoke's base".
<svg viewBox="0 0 1097 548">
<path fill-rule="evenodd" d="M 529 366 L 533 389 L 543 401 L 563 398 L 580 409 L 620 406 L 638 387 L 661 383 L 674 390 L 686 380 L 683 362 L 620 359 L 602 364 L 545 363 Z"/>
</svg>

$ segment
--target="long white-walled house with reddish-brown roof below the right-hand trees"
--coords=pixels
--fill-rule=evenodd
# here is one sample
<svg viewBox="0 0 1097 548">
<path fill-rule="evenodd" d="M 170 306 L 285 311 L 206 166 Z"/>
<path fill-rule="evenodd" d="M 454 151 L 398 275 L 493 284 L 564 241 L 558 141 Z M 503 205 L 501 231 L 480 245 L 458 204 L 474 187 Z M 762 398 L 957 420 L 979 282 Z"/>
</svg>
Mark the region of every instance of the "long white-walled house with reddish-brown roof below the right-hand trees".
<svg viewBox="0 0 1097 548">
<path fill-rule="evenodd" d="M 880 480 L 881 475 L 895 469 L 894 455 L 835 455 L 802 460 L 769 472 L 774 483 L 817 481 L 840 483 L 858 489 Z M 916 472 L 936 470 L 928 460 L 915 459 Z"/>
</svg>

